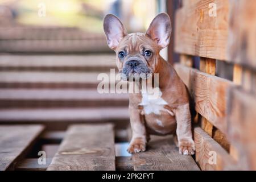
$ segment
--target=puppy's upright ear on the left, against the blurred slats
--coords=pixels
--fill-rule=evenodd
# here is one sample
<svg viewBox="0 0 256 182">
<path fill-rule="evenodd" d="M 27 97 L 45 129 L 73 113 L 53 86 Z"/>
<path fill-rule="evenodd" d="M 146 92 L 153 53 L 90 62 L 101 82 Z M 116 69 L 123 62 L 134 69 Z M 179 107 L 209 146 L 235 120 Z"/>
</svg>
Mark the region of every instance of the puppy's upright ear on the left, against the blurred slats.
<svg viewBox="0 0 256 182">
<path fill-rule="evenodd" d="M 108 14 L 104 18 L 104 32 L 108 41 L 108 46 L 115 50 L 122 38 L 127 35 L 125 27 L 117 16 Z"/>
</svg>

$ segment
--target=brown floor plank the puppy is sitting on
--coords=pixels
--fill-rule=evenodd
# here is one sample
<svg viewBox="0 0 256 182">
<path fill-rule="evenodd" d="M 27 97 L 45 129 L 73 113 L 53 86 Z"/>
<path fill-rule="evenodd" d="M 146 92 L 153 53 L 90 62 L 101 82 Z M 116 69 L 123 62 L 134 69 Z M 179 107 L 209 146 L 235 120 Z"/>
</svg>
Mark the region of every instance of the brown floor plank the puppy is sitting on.
<svg viewBox="0 0 256 182">
<path fill-rule="evenodd" d="M 192 156 L 179 154 L 172 136 L 152 136 L 146 152 L 133 154 L 132 158 L 135 171 L 199 170 Z"/>
</svg>

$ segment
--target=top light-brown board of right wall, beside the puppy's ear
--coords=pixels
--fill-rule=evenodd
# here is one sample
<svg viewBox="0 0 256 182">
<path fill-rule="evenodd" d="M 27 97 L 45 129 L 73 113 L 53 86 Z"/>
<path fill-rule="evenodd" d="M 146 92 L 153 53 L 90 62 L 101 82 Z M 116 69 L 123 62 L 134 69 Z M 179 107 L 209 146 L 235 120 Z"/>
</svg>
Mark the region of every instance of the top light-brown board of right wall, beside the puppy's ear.
<svg viewBox="0 0 256 182">
<path fill-rule="evenodd" d="M 210 5 L 216 5 L 216 16 L 212 11 L 214 7 Z M 176 11 L 175 51 L 227 60 L 228 21 L 229 0 L 186 3 Z"/>
</svg>

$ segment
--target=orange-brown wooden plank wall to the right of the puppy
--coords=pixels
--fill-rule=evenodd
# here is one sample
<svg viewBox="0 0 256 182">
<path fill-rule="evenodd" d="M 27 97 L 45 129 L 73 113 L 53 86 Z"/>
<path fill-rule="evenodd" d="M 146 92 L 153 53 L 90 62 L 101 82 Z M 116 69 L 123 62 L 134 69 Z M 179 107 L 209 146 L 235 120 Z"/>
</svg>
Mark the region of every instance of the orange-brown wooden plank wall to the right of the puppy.
<svg viewBox="0 0 256 182">
<path fill-rule="evenodd" d="M 256 1 L 183 1 L 175 16 L 175 68 L 197 113 L 196 162 L 203 170 L 255 170 Z M 218 77 L 222 61 L 233 66 L 232 80 Z"/>
</svg>

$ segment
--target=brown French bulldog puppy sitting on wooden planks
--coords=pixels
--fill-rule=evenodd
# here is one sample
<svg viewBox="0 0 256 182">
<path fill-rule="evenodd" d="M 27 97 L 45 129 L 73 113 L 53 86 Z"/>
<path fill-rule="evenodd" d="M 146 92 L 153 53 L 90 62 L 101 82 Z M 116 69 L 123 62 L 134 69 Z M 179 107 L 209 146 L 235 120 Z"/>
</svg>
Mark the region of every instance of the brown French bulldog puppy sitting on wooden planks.
<svg viewBox="0 0 256 182">
<path fill-rule="evenodd" d="M 145 151 L 150 134 L 174 134 L 180 154 L 195 154 L 187 89 L 172 65 L 159 55 L 170 42 L 170 17 L 166 13 L 158 14 L 146 33 L 127 34 L 121 20 L 108 14 L 104 18 L 104 31 L 108 46 L 117 54 L 120 73 L 127 78 L 134 73 L 158 73 L 159 78 L 159 97 L 152 99 L 143 90 L 129 93 L 132 139 L 127 151 Z"/>
</svg>

